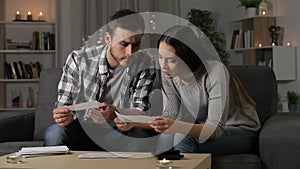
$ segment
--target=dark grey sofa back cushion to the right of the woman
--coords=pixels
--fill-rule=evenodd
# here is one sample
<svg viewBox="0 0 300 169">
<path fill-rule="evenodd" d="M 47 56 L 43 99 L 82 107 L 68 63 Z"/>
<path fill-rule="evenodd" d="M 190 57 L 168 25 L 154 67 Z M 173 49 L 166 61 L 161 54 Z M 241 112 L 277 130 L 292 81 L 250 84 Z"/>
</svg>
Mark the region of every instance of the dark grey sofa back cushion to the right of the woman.
<svg viewBox="0 0 300 169">
<path fill-rule="evenodd" d="M 248 93 L 256 102 L 256 111 L 263 124 L 277 110 L 277 81 L 268 66 L 231 66 Z"/>
</svg>

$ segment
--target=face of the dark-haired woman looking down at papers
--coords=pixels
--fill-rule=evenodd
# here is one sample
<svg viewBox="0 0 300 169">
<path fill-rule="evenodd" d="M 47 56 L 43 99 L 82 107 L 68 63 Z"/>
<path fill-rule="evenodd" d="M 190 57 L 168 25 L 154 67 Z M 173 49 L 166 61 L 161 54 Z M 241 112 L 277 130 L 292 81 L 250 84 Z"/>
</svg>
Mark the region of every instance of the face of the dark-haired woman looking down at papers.
<svg viewBox="0 0 300 169">
<path fill-rule="evenodd" d="M 158 53 L 159 65 L 165 77 L 171 79 L 178 76 L 183 79 L 187 74 L 191 73 L 186 64 L 176 56 L 176 51 L 171 45 L 160 42 Z"/>
</svg>

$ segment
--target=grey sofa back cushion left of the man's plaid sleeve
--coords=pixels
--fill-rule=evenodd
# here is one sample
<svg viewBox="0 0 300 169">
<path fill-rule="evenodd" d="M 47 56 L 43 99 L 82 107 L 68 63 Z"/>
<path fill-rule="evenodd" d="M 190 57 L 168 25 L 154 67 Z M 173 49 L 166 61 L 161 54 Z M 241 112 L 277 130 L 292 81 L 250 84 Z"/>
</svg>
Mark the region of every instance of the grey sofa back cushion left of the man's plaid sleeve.
<svg viewBox="0 0 300 169">
<path fill-rule="evenodd" d="M 34 140 L 43 140 L 45 129 L 54 123 L 52 110 L 57 100 L 57 85 L 62 74 L 61 68 L 44 69 L 40 74 L 34 126 Z"/>
</svg>

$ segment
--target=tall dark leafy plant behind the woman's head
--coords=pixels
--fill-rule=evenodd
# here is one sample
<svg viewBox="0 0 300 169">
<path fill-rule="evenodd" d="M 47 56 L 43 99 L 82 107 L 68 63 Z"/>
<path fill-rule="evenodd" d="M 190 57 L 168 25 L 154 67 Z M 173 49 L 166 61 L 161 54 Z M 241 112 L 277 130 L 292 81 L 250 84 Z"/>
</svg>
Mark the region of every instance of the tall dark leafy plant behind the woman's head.
<svg viewBox="0 0 300 169">
<path fill-rule="evenodd" d="M 187 14 L 187 19 L 195 26 L 197 26 L 211 41 L 216 51 L 219 54 L 221 61 L 228 64 L 229 54 L 225 50 L 225 35 L 217 32 L 213 25 L 212 12 L 200 9 L 191 9 Z"/>
</svg>

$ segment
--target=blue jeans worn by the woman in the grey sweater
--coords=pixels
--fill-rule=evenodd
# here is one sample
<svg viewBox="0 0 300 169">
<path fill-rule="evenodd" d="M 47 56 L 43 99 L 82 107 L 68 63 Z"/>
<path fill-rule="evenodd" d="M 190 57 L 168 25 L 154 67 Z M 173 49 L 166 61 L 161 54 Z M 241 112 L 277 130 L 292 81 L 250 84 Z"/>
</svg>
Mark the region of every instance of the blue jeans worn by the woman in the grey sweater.
<svg viewBox="0 0 300 169">
<path fill-rule="evenodd" d="M 212 155 L 255 153 L 257 149 L 253 150 L 253 147 L 258 147 L 258 132 L 226 126 L 222 136 L 215 140 L 199 143 L 198 138 L 175 134 L 174 141 L 179 142 L 175 145 L 175 150 L 185 153 L 211 153 Z"/>
</svg>

